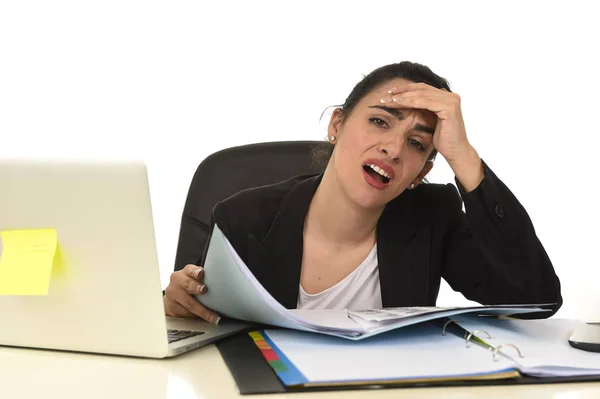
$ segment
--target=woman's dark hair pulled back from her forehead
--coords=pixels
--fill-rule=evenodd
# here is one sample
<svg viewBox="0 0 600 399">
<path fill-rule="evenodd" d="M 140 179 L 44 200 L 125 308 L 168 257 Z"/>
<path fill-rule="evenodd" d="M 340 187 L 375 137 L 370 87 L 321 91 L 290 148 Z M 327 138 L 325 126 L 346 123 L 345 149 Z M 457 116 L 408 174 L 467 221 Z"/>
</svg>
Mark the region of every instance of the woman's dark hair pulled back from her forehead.
<svg viewBox="0 0 600 399">
<path fill-rule="evenodd" d="M 337 108 L 341 110 L 344 118 L 347 118 L 356 104 L 358 104 L 363 97 L 390 80 L 398 78 L 410 80 L 415 83 L 422 82 L 437 87 L 438 89 L 451 91 L 448 81 L 433 73 L 429 67 L 415 62 L 402 61 L 396 64 L 379 67 L 365 76 L 363 80 L 354 86 L 354 89 L 352 89 L 344 104 L 337 106 Z M 313 161 L 315 166 L 324 169 L 329 162 L 332 153 L 333 144 L 327 141 L 319 143 L 313 149 Z M 429 156 L 429 160 L 434 160 L 436 155 L 437 150 L 433 150 Z"/>
</svg>

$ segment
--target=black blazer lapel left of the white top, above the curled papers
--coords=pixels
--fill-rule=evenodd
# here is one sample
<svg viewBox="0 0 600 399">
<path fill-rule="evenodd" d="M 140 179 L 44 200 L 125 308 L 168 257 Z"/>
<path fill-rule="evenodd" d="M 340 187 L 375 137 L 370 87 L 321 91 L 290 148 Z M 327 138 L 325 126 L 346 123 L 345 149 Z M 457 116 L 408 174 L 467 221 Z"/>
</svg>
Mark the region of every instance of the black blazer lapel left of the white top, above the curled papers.
<svg viewBox="0 0 600 399">
<path fill-rule="evenodd" d="M 304 222 L 322 175 L 296 184 L 281 202 L 264 237 L 248 237 L 248 262 L 254 275 L 285 308 L 295 309 L 300 290 Z"/>
</svg>

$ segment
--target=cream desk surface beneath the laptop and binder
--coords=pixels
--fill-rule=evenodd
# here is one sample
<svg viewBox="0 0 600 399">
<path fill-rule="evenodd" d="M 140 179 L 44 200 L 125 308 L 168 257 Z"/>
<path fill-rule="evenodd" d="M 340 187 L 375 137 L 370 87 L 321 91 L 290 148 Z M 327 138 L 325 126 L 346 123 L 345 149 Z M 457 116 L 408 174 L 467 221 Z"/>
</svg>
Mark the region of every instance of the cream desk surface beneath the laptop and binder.
<svg viewBox="0 0 600 399">
<path fill-rule="evenodd" d="M 0 397 L 196 399 L 235 397 L 363 398 L 598 398 L 600 383 L 459 388 L 405 388 L 271 395 L 239 395 L 214 345 L 173 359 L 0 347 Z"/>
</svg>

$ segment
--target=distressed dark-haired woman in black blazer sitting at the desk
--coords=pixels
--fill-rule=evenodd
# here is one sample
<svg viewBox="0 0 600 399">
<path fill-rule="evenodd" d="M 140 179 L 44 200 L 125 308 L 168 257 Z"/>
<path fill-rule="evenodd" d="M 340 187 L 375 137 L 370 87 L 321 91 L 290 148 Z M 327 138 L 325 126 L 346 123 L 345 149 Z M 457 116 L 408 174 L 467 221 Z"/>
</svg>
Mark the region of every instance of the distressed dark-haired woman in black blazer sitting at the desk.
<svg viewBox="0 0 600 399">
<path fill-rule="evenodd" d="M 470 144 L 443 78 L 410 62 L 376 69 L 335 109 L 328 141 L 323 174 L 244 190 L 214 209 L 282 305 L 434 306 L 444 278 L 482 304 L 560 308 L 559 279 L 525 209 Z M 423 183 L 438 152 L 458 192 Z M 206 291 L 202 267 L 187 265 L 171 276 L 165 313 L 218 322 L 193 296 Z"/>
</svg>

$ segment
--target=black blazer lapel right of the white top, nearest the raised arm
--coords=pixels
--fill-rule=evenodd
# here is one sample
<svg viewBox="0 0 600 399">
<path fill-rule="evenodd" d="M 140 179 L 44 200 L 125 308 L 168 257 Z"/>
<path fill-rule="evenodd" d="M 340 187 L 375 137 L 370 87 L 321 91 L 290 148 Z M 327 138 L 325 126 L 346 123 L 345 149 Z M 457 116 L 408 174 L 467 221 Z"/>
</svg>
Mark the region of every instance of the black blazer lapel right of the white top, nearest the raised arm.
<svg viewBox="0 0 600 399">
<path fill-rule="evenodd" d="M 412 198 L 401 195 L 393 206 L 388 205 L 377 227 L 384 307 L 428 305 L 431 230 L 416 222 Z"/>
</svg>

